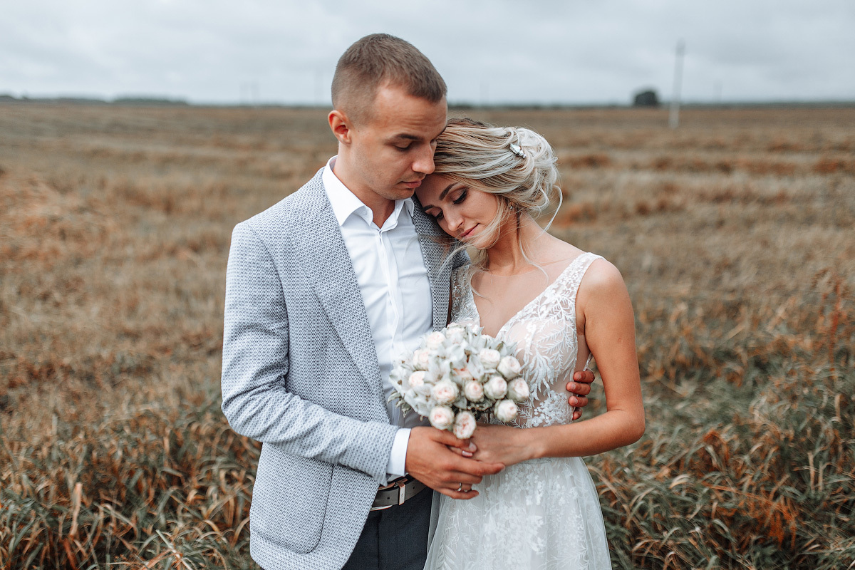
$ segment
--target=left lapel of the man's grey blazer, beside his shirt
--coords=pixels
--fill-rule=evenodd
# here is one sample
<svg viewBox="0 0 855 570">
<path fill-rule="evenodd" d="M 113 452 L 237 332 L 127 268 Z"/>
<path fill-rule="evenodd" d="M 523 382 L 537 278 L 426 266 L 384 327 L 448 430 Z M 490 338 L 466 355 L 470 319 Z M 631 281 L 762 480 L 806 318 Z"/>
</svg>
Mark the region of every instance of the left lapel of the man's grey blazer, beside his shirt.
<svg viewBox="0 0 855 570">
<path fill-rule="evenodd" d="M 385 409 L 368 313 L 320 173 L 307 185 L 304 197 L 309 208 L 294 220 L 292 232 L 296 253 L 302 258 L 300 269 L 309 278 L 351 359 Z"/>
</svg>

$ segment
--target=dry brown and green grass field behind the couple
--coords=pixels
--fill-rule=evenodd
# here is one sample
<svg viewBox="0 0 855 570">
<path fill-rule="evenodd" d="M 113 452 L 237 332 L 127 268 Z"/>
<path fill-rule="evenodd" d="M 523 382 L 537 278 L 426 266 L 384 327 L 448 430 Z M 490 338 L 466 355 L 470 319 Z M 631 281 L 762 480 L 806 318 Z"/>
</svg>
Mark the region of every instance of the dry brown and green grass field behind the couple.
<svg viewBox="0 0 855 570">
<path fill-rule="evenodd" d="M 325 115 L 0 105 L 0 570 L 254 567 L 229 238 Z M 633 297 L 647 432 L 587 459 L 615 567 L 855 567 L 855 108 L 470 115 L 551 140 L 552 231 Z"/>
</svg>

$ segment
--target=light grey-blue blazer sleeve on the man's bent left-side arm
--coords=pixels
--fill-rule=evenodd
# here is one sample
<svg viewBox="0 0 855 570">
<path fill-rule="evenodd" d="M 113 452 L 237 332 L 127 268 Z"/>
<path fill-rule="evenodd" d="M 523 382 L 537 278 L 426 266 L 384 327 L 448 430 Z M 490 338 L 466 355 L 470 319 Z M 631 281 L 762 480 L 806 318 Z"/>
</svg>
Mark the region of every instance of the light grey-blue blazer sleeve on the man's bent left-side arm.
<svg viewBox="0 0 855 570">
<path fill-rule="evenodd" d="M 244 222 L 234 228 L 226 272 L 223 414 L 249 438 L 385 483 L 398 428 L 335 414 L 296 396 L 286 389 L 288 370 L 282 285 L 267 247 Z"/>
</svg>

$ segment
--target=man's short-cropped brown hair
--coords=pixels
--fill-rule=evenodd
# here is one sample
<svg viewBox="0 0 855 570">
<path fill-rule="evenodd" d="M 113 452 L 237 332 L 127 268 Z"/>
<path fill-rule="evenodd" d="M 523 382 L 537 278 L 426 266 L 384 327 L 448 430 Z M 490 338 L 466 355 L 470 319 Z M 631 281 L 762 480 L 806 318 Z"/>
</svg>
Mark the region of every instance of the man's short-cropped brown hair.
<svg viewBox="0 0 855 570">
<path fill-rule="evenodd" d="M 439 103 L 447 91 L 433 63 L 413 44 L 373 33 L 357 40 L 339 58 L 333 75 L 333 107 L 345 111 L 351 120 L 365 120 L 384 83 L 403 87 L 430 103 Z"/>
</svg>

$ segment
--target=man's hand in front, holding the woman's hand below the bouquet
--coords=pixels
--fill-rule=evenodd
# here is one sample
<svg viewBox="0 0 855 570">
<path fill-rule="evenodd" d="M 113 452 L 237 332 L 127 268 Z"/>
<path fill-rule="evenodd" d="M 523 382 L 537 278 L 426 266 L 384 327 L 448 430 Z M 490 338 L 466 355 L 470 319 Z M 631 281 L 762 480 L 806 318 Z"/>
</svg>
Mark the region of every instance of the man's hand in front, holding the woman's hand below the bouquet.
<svg viewBox="0 0 855 570">
<path fill-rule="evenodd" d="M 472 485 L 481 483 L 484 475 L 492 475 L 504 469 L 501 463 L 475 461 L 457 455 L 449 448 L 472 452 L 475 446 L 469 441 L 454 437 L 433 427 L 414 427 L 407 444 L 404 468 L 416 479 L 452 499 L 471 499 L 478 496 Z M 462 491 L 457 491 L 461 489 Z"/>
</svg>

